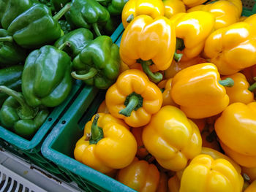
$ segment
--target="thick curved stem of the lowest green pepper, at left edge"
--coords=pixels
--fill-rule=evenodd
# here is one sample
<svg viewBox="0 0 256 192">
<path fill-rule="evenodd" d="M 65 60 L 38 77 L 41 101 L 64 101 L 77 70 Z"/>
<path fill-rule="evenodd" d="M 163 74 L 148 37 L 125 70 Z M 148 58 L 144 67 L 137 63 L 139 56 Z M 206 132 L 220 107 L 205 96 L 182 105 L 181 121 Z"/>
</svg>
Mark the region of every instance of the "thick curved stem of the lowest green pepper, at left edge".
<svg viewBox="0 0 256 192">
<path fill-rule="evenodd" d="M 0 92 L 5 93 L 8 96 L 12 96 L 14 99 L 16 99 L 16 101 L 18 101 L 20 107 L 18 107 L 17 110 L 20 119 L 33 119 L 37 115 L 38 107 L 32 108 L 26 104 L 26 101 L 21 93 L 13 91 L 6 86 L 0 86 Z"/>
</svg>

